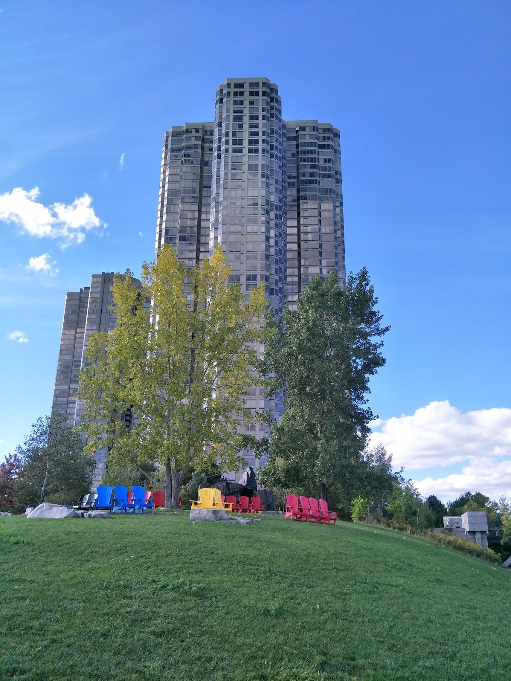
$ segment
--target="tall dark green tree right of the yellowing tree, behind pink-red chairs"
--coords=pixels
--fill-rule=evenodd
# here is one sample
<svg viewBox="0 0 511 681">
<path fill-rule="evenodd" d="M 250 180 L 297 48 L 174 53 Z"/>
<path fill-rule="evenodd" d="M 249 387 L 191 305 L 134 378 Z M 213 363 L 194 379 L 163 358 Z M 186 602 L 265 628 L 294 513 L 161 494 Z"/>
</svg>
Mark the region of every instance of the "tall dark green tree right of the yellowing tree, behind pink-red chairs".
<svg viewBox="0 0 511 681">
<path fill-rule="evenodd" d="M 325 280 L 315 276 L 296 311 L 273 322 L 263 370 L 273 375 L 269 394 L 282 390 L 287 411 L 271 431 L 267 484 L 322 498 L 329 485 L 358 486 L 373 419 L 369 377 L 385 364 L 379 339 L 389 328 L 376 304 L 365 268 L 345 287 L 332 272 Z"/>
</svg>

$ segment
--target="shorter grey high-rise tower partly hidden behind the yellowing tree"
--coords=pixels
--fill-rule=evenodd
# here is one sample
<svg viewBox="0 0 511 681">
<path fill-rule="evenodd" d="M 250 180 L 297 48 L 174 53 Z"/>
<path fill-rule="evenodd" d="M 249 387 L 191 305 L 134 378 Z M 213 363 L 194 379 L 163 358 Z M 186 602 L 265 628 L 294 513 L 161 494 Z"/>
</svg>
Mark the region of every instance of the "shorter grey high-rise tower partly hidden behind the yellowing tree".
<svg viewBox="0 0 511 681">
<path fill-rule="evenodd" d="M 134 281 L 140 285 L 138 279 Z M 64 318 L 62 322 L 61 345 L 57 363 L 57 377 L 53 391 L 52 410 L 66 411 L 74 424 L 80 423 L 85 403 L 78 400 L 78 373 L 87 365 L 87 347 L 91 334 L 98 331 L 111 331 L 117 316 L 112 306 L 112 285 L 114 272 L 102 272 L 91 276 L 91 285 L 65 297 Z M 129 425 L 131 413 L 125 412 Z M 96 468 L 93 488 L 101 484 L 106 471 L 106 449 L 95 453 Z"/>
</svg>

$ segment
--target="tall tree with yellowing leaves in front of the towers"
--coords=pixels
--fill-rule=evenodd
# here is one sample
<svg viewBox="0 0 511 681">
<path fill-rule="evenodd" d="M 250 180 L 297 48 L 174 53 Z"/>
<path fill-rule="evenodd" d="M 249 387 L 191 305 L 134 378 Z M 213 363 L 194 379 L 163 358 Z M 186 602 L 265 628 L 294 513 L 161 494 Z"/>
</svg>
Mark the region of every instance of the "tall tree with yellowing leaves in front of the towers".
<svg viewBox="0 0 511 681">
<path fill-rule="evenodd" d="M 117 326 L 91 336 L 80 375 L 87 450 L 108 446 L 110 460 L 164 466 L 164 484 L 146 477 L 165 489 L 168 507 L 177 506 L 189 469 L 240 463 L 237 426 L 255 381 L 266 298 L 261 286 L 245 300 L 229 272 L 220 248 L 186 270 L 165 246 L 155 264 L 142 266 L 142 289 L 117 276 Z"/>
</svg>

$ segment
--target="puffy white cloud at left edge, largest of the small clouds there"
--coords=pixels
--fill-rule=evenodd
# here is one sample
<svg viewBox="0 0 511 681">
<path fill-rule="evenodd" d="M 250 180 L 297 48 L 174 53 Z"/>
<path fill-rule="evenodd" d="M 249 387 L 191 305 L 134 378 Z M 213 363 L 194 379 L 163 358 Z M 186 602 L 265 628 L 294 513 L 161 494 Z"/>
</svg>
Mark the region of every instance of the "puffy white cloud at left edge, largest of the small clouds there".
<svg viewBox="0 0 511 681">
<path fill-rule="evenodd" d="M 50 206 L 36 201 L 39 194 L 39 187 L 30 191 L 15 187 L 0 194 L 0 220 L 20 225 L 30 236 L 58 239 L 62 247 L 73 242 L 80 244 L 87 232 L 106 227 L 95 214 L 87 193 L 71 204 L 57 202 Z"/>
</svg>

